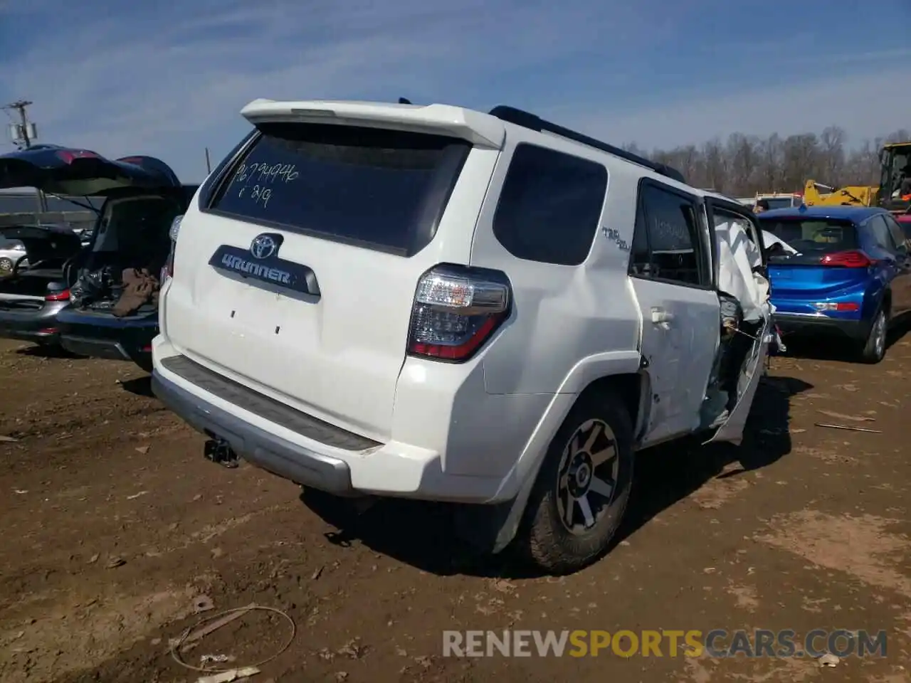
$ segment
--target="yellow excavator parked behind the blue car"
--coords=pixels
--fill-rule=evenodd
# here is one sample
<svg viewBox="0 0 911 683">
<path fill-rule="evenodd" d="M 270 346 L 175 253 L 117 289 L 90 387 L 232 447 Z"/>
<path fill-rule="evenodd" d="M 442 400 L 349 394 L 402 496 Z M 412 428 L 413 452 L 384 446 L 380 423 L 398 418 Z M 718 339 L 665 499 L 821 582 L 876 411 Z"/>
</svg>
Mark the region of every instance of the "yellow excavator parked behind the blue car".
<svg viewBox="0 0 911 683">
<path fill-rule="evenodd" d="M 884 145 L 879 152 L 879 187 L 831 188 L 815 180 L 804 185 L 804 204 L 813 206 L 881 206 L 898 215 L 911 207 L 911 142 Z"/>
</svg>

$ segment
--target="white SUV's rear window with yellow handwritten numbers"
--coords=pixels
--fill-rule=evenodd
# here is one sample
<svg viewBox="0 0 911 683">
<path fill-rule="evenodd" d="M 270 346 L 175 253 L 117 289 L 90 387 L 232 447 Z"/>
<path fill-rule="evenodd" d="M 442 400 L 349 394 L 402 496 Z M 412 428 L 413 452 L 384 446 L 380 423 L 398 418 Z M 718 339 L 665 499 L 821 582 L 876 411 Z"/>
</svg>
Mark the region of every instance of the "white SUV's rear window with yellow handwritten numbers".
<svg viewBox="0 0 911 683">
<path fill-rule="evenodd" d="M 405 256 L 433 239 L 470 149 L 456 138 L 383 128 L 260 130 L 211 209 Z"/>
</svg>

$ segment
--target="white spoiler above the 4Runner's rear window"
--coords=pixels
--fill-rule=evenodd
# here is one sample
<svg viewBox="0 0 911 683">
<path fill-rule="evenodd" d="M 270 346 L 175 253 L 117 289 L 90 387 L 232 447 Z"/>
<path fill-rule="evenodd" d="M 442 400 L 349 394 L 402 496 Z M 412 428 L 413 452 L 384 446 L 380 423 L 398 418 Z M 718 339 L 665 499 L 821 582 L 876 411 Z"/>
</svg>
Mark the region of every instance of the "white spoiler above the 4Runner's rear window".
<svg viewBox="0 0 911 683">
<path fill-rule="evenodd" d="M 461 138 L 491 149 L 502 149 L 506 139 L 506 127 L 497 118 L 449 105 L 256 99 L 241 109 L 241 116 L 254 126 L 260 123 L 300 122 L 413 130 Z"/>
</svg>

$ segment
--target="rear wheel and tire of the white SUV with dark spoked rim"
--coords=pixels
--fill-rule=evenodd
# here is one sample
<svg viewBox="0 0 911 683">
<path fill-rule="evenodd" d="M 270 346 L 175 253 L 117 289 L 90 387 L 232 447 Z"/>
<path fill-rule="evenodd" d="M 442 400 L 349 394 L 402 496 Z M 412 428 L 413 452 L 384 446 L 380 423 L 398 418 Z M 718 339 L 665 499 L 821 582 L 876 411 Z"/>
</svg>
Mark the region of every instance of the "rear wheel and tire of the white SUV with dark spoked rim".
<svg viewBox="0 0 911 683">
<path fill-rule="evenodd" d="M 583 397 L 548 448 L 517 550 L 549 574 L 589 566 L 617 533 L 632 484 L 630 413 L 613 393 Z"/>
</svg>

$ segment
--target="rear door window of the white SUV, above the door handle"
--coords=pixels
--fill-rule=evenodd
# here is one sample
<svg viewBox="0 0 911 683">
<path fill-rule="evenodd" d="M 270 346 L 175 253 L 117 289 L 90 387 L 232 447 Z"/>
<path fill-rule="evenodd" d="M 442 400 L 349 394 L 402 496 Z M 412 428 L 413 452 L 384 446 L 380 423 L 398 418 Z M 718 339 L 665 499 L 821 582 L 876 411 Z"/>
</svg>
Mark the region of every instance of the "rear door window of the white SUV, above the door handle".
<svg viewBox="0 0 911 683">
<path fill-rule="evenodd" d="M 692 197 L 651 183 L 642 185 L 630 274 L 680 284 L 709 284 L 697 211 L 699 204 Z M 647 253 L 641 247 L 637 250 L 643 240 Z"/>
</svg>

